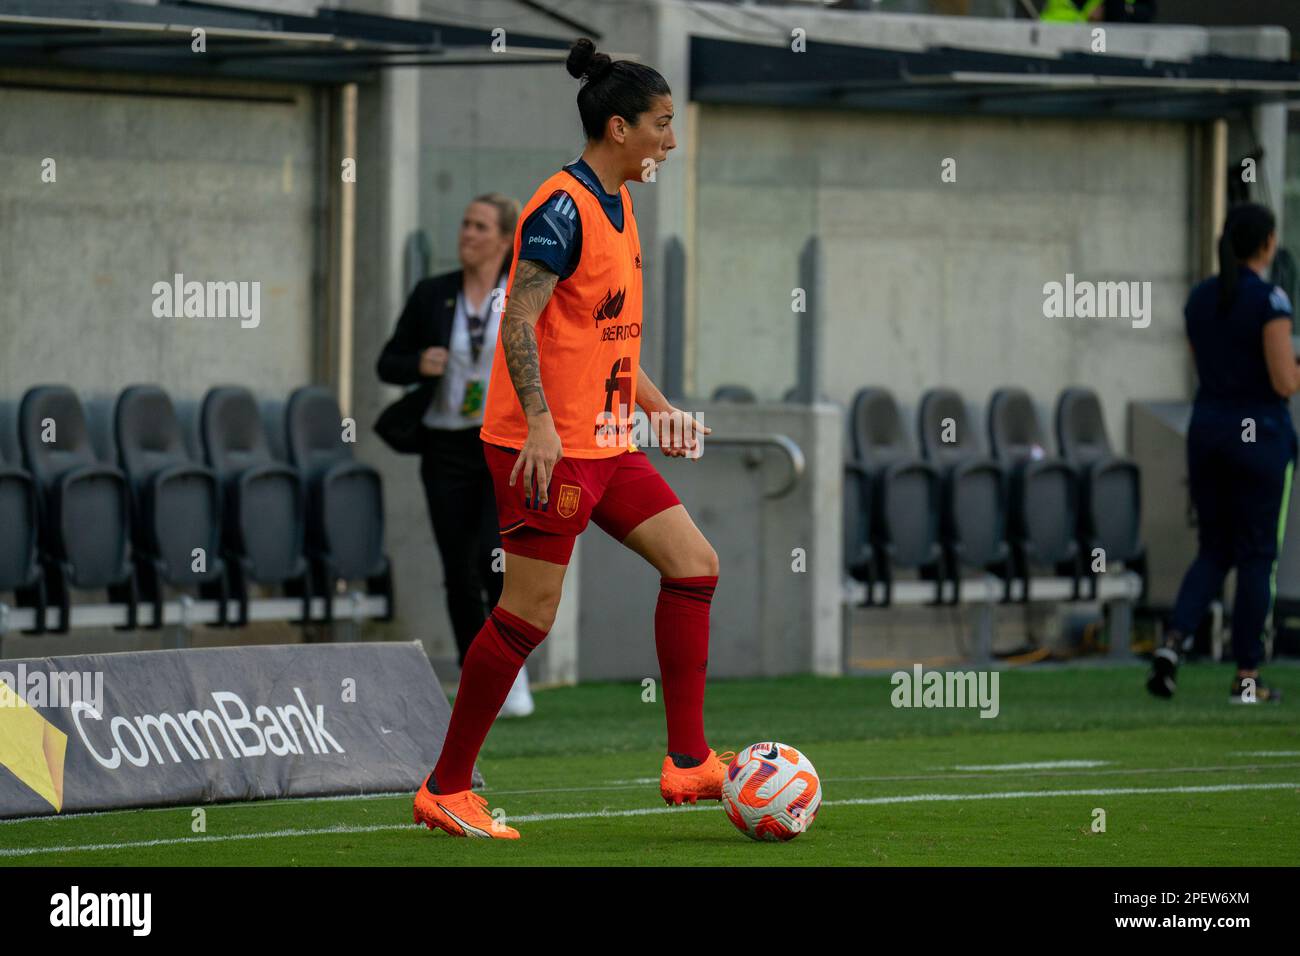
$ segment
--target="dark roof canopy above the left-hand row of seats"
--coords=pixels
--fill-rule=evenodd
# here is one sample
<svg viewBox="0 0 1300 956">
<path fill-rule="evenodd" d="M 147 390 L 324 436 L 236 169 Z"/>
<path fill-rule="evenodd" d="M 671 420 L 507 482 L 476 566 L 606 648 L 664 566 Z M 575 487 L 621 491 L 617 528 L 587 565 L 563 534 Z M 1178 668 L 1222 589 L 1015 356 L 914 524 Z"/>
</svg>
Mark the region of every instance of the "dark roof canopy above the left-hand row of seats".
<svg viewBox="0 0 1300 956">
<path fill-rule="evenodd" d="M 599 33 L 541 4 L 567 31 Z M 207 52 L 191 52 L 192 31 Z M 572 38 L 493 33 L 421 20 L 318 9 L 315 16 L 160 0 L 6 0 L 0 8 L 0 66 L 64 66 L 296 82 L 363 82 L 396 66 L 510 66 L 560 60 Z"/>
</svg>

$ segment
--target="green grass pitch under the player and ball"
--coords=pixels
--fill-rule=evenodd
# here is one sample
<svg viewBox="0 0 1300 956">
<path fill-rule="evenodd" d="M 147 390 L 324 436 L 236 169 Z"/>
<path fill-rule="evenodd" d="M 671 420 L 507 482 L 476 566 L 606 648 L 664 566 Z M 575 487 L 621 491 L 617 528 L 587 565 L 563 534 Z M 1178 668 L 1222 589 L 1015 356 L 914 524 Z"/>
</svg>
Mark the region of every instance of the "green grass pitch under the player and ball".
<svg viewBox="0 0 1300 956">
<path fill-rule="evenodd" d="M 277 800 L 207 806 L 204 832 L 194 808 L 0 821 L 0 865 L 1300 865 L 1297 700 L 1230 705 L 1231 667 L 1202 663 L 1157 701 L 1143 674 L 1004 671 L 993 719 L 894 709 L 888 676 L 714 682 L 711 745 L 780 740 L 822 777 L 786 844 L 718 804 L 667 808 L 663 705 L 614 683 L 538 692 L 493 728 L 484 793 L 517 842 L 416 827 L 410 795 Z M 1266 676 L 1300 698 L 1300 667 Z"/>
</svg>

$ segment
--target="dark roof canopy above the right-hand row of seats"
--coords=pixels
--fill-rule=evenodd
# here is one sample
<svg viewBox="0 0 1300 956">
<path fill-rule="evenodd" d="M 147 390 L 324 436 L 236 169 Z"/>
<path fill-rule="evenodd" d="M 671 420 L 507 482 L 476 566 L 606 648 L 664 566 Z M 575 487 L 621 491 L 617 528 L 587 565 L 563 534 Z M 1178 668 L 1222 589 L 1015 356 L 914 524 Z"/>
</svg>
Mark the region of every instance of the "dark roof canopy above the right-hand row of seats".
<svg viewBox="0 0 1300 956">
<path fill-rule="evenodd" d="M 914 113 L 1213 120 L 1300 101 L 1300 65 L 1205 55 L 1143 60 L 1063 52 L 1020 56 L 809 42 L 807 52 L 690 38 L 699 103 Z"/>
</svg>

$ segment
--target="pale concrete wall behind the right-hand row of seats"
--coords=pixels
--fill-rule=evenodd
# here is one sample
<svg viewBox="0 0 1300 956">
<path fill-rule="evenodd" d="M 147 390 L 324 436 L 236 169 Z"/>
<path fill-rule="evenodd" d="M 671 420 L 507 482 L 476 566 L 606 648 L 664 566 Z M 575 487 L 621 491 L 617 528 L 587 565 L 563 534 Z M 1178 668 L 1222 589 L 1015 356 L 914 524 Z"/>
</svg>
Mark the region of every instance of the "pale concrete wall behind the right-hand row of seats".
<svg viewBox="0 0 1300 956">
<path fill-rule="evenodd" d="M 833 401 L 885 385 L 913 403 L 946 385 L 983 402 L 1014 384 L 1050 403 L 1083 382 L 1122 444 L 1130 399 L 1186 388 L 1186 126 L 708 107 L 699 129 L 698 394 L 746 382 L 775 401 L 794 382 L 810 235 Z M 1043 286 L 1066 273 L 1149 281 L 1150 326 L 1044 317 Z"/>
</svg>

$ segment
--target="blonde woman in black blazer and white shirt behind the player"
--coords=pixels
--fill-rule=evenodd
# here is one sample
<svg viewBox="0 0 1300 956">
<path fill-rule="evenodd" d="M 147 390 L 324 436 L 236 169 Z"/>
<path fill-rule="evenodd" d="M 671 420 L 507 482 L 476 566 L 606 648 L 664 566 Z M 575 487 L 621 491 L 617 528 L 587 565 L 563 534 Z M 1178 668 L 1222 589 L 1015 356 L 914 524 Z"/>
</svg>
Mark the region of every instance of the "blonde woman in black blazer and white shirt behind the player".
<svg viewBox="0 0 1300 956">
<path fill-rule="evenodd" d="M 500 598 L 502 574 L 493 568 L 500 548 L 497 503 L 478 428 L 517 220 L 519 203 L 499 193 L 469 203 L 460 222 L 462 268 L 416 285 L 378 360 L 382 381 L 419 385 L 385 414 L 384 425 L 420 454 L 462 665 Z M 502 714 L 532 709 L 528 672 L 520 669 Z"/>
</svg>

